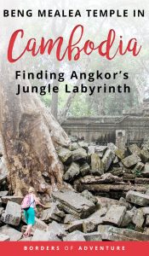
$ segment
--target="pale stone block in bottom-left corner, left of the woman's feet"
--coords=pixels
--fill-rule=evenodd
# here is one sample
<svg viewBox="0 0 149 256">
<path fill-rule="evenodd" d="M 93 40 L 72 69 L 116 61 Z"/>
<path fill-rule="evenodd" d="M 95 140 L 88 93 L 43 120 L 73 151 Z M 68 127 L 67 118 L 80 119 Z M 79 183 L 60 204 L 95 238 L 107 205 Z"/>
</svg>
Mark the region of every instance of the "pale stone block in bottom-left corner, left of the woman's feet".
<svg viewBox="0 0 149 256">
<path fill-rule="evenodd" d="M 19 241 L 22 233 L 18 230 L 14 230 L 8 224 L 0 228 L 0 233 L 9 236 L 10 241 Z"/>
</svg>

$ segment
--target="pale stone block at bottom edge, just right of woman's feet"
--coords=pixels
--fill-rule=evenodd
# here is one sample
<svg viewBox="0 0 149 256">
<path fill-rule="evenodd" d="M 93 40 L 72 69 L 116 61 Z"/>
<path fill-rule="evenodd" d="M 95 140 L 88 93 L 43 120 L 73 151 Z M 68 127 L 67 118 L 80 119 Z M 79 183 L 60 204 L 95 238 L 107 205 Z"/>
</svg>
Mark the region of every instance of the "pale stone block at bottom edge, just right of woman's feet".
<svg viewBox="0 0 149 256">
<path fill-rule="evenodd" d="M 52 232 L 45 232 L 43 230 L 35 230 L 32 241 L 60 241 L 58 236 L 55 236 Z"/>
</svg>

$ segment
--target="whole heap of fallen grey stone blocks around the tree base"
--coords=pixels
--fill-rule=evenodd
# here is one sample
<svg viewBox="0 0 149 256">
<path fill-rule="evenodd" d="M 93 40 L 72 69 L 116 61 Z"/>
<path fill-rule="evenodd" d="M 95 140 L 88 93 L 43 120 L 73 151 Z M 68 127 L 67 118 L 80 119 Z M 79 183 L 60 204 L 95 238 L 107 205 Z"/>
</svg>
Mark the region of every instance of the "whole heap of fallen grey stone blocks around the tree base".
<svg viewBox="0 0 149 256">
<path fill-rule="evenodd" d="M 0 241 L 149 241 L 148 145 L 82 141 L 57 152 L 64 187 L 37 213 L 29 238 L 22 237 L 22 197 L 9 194 L 0 169 Z"/>
</svg>

